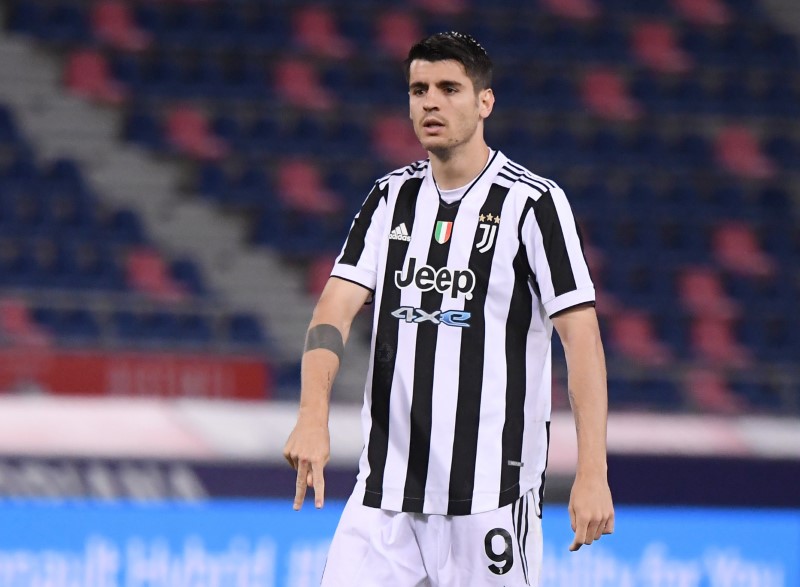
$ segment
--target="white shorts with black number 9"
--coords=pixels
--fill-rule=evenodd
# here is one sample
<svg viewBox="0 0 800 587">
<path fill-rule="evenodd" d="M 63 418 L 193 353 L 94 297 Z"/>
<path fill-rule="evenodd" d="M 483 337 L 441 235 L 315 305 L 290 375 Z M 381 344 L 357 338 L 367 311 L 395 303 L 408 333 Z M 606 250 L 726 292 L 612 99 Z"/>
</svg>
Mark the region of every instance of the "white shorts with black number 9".
<svg viewBox="0 0 800 587">
<path fill-rule="evenodd" d="M 532 492 L 467 516 L 390 512 L 350 497 L 323 587 L 521 587 L 539 584 L 542 524 Z"/>
</svg>

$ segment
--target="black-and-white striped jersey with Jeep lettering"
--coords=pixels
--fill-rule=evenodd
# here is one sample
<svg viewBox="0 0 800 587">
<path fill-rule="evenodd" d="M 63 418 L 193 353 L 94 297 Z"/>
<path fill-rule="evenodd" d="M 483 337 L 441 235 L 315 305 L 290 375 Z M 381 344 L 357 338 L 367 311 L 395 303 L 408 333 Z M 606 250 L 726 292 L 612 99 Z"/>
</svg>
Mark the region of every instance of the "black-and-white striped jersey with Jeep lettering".
<svg viewBox="0 0 800 587">
<path fill-rule="evenodd" d="M 374 291 L 364 505 L 465 515 L 529 490 L 541 501 L 550 317 L 595 295 L 561 188 L 492 152 L 448 204 L 419 161 L 375 183 L 332 275 Z"/>
</svg>

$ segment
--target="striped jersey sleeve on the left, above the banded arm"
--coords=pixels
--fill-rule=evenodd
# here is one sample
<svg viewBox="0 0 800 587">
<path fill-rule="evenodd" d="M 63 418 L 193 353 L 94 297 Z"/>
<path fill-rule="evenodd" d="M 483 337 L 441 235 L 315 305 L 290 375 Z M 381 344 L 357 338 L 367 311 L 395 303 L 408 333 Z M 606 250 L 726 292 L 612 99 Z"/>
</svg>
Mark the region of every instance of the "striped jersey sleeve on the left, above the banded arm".
<svg viewBox="0 0 800 587">
<path fill-rule="evenodd" d="M 387 192 L 388 184 L 384 189 L 376 184 L 364 200 L 333 266 L 332 276 L 375 290 L 378 255 L 384 240 Z"/>
</svg>

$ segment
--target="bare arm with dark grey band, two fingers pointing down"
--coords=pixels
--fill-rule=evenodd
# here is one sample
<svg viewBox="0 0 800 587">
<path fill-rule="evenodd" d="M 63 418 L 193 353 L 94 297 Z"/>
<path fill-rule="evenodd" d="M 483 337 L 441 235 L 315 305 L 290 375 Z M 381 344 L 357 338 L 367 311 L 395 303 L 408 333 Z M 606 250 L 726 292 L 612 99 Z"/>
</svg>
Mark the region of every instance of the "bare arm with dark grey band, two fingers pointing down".
<svg viewBox="0 0 800 587">
<path fill-rule="evenodd" d="M 328 412 L 333 380 L 339 370 L 350 325 L 370 291 L 332 277 L 314 308 L 301 363 L 300 410 L 297 423 L 283 448 L 283 456 L 297 470 L 294 509 L 303 505 L 306 488 L 314 488 L 314 502 L 325 500 L 322 470 L 330 457 Z"/>
</svg>

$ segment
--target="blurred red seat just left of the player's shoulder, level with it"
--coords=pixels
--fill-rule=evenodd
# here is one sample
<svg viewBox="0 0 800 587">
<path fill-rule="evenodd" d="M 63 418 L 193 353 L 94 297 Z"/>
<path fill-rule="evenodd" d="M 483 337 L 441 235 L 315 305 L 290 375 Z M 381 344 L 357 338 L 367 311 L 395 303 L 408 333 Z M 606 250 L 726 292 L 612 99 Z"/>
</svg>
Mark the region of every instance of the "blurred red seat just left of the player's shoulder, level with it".
<svg viewBox="0 0 800 587">
<path fill-rule="evenodd" d="M 331 214 L 342 209 L 336 194 L 325 187 L 319 169 L 308 161 L 286 161 L 277 172 L 278 195 L 291 209 Z"/>
</svg>

